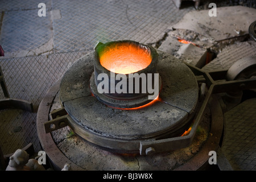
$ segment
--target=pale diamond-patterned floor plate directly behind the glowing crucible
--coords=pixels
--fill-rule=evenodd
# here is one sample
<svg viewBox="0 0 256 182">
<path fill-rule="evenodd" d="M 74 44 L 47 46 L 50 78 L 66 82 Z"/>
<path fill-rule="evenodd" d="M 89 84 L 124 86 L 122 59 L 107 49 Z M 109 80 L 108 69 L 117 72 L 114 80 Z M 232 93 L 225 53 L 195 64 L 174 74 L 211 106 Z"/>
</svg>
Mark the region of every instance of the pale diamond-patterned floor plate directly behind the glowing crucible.
<svg viewBox="0 0 256 182">
<path fill-rule="evenodd" d="M 61 13 L 53 22 L 54 49 L 69 52 L 98 41 L 157 42 L 192 7 L 177 10 L 172 1 L 53 1 L 52 9 Z"/>
</svg>

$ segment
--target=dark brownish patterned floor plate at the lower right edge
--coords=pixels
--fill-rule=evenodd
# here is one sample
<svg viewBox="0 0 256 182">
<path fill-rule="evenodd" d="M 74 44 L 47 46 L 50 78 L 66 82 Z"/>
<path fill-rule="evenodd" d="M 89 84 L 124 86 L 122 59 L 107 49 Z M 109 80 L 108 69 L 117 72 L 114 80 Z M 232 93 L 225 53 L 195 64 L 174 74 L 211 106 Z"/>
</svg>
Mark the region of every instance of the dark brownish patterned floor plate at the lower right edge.
<svg viewBox="0 0 256 182">
<path fill-rule="evenodd" d="M 256 170 L 256 98 L 224 114 L 222 151 L 235 170 Z"/>
</svg>

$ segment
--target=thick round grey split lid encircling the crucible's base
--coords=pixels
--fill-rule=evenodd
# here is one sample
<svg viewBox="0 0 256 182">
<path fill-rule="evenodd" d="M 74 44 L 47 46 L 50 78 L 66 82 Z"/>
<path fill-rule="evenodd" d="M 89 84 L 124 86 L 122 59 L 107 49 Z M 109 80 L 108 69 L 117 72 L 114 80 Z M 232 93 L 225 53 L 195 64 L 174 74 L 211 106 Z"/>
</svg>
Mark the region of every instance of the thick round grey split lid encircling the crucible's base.
<svg viewBox="0 0 256 182">
<path fill-rule="evenodd" d="M 162 101 L 138 110 L 109 107 L 92 96 L 89 80 L 93 53 L 77 60 L 60 84 L 60 101 L 82 138 L 110 148 L 134 152 L 141 140 L 182 134 L 197 105 L 199 88 L 192 71 L 171 55 L 159 53 L 158 72 Z"/>
</svg>

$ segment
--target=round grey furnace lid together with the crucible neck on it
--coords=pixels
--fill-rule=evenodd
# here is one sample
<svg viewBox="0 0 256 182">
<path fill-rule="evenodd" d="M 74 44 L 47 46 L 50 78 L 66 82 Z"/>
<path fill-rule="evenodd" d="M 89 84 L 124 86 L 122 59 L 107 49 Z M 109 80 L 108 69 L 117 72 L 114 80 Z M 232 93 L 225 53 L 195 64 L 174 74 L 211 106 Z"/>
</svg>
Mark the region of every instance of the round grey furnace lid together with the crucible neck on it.
<svg viewBox="0 0 256 182">
<path fill-rule="evenodd" d="M 148 100 L 148 93 L 98 93 L 96 77 L 102 72 L 109 76 L 111 73 L 100 64 L 98 51 L 109 49 L 109 45 L 119 47 L 118 44 L 131 44 L 148 52 L 150 64 L 135 73 L 159 73 L 159 80 L 153 79 L 153 85 L 159 88 L 157 99 Z M 142 82 L 139 83 L 142 90 Z M 116 84 L 110 82 L 109 90 Z M 67 114 L 49 121 L 47 131 L 56 129 L 52 125 L 68 125 L 86 141 L 106 150 L 137 154 L 143 141 L 178 137 L 188 130 L 199 86 L 184 63 L 150 46 L 125 40 L 101 44 L 77 60 L 61 79 L 59 93 L 61 110 Z"/>
</svg>

